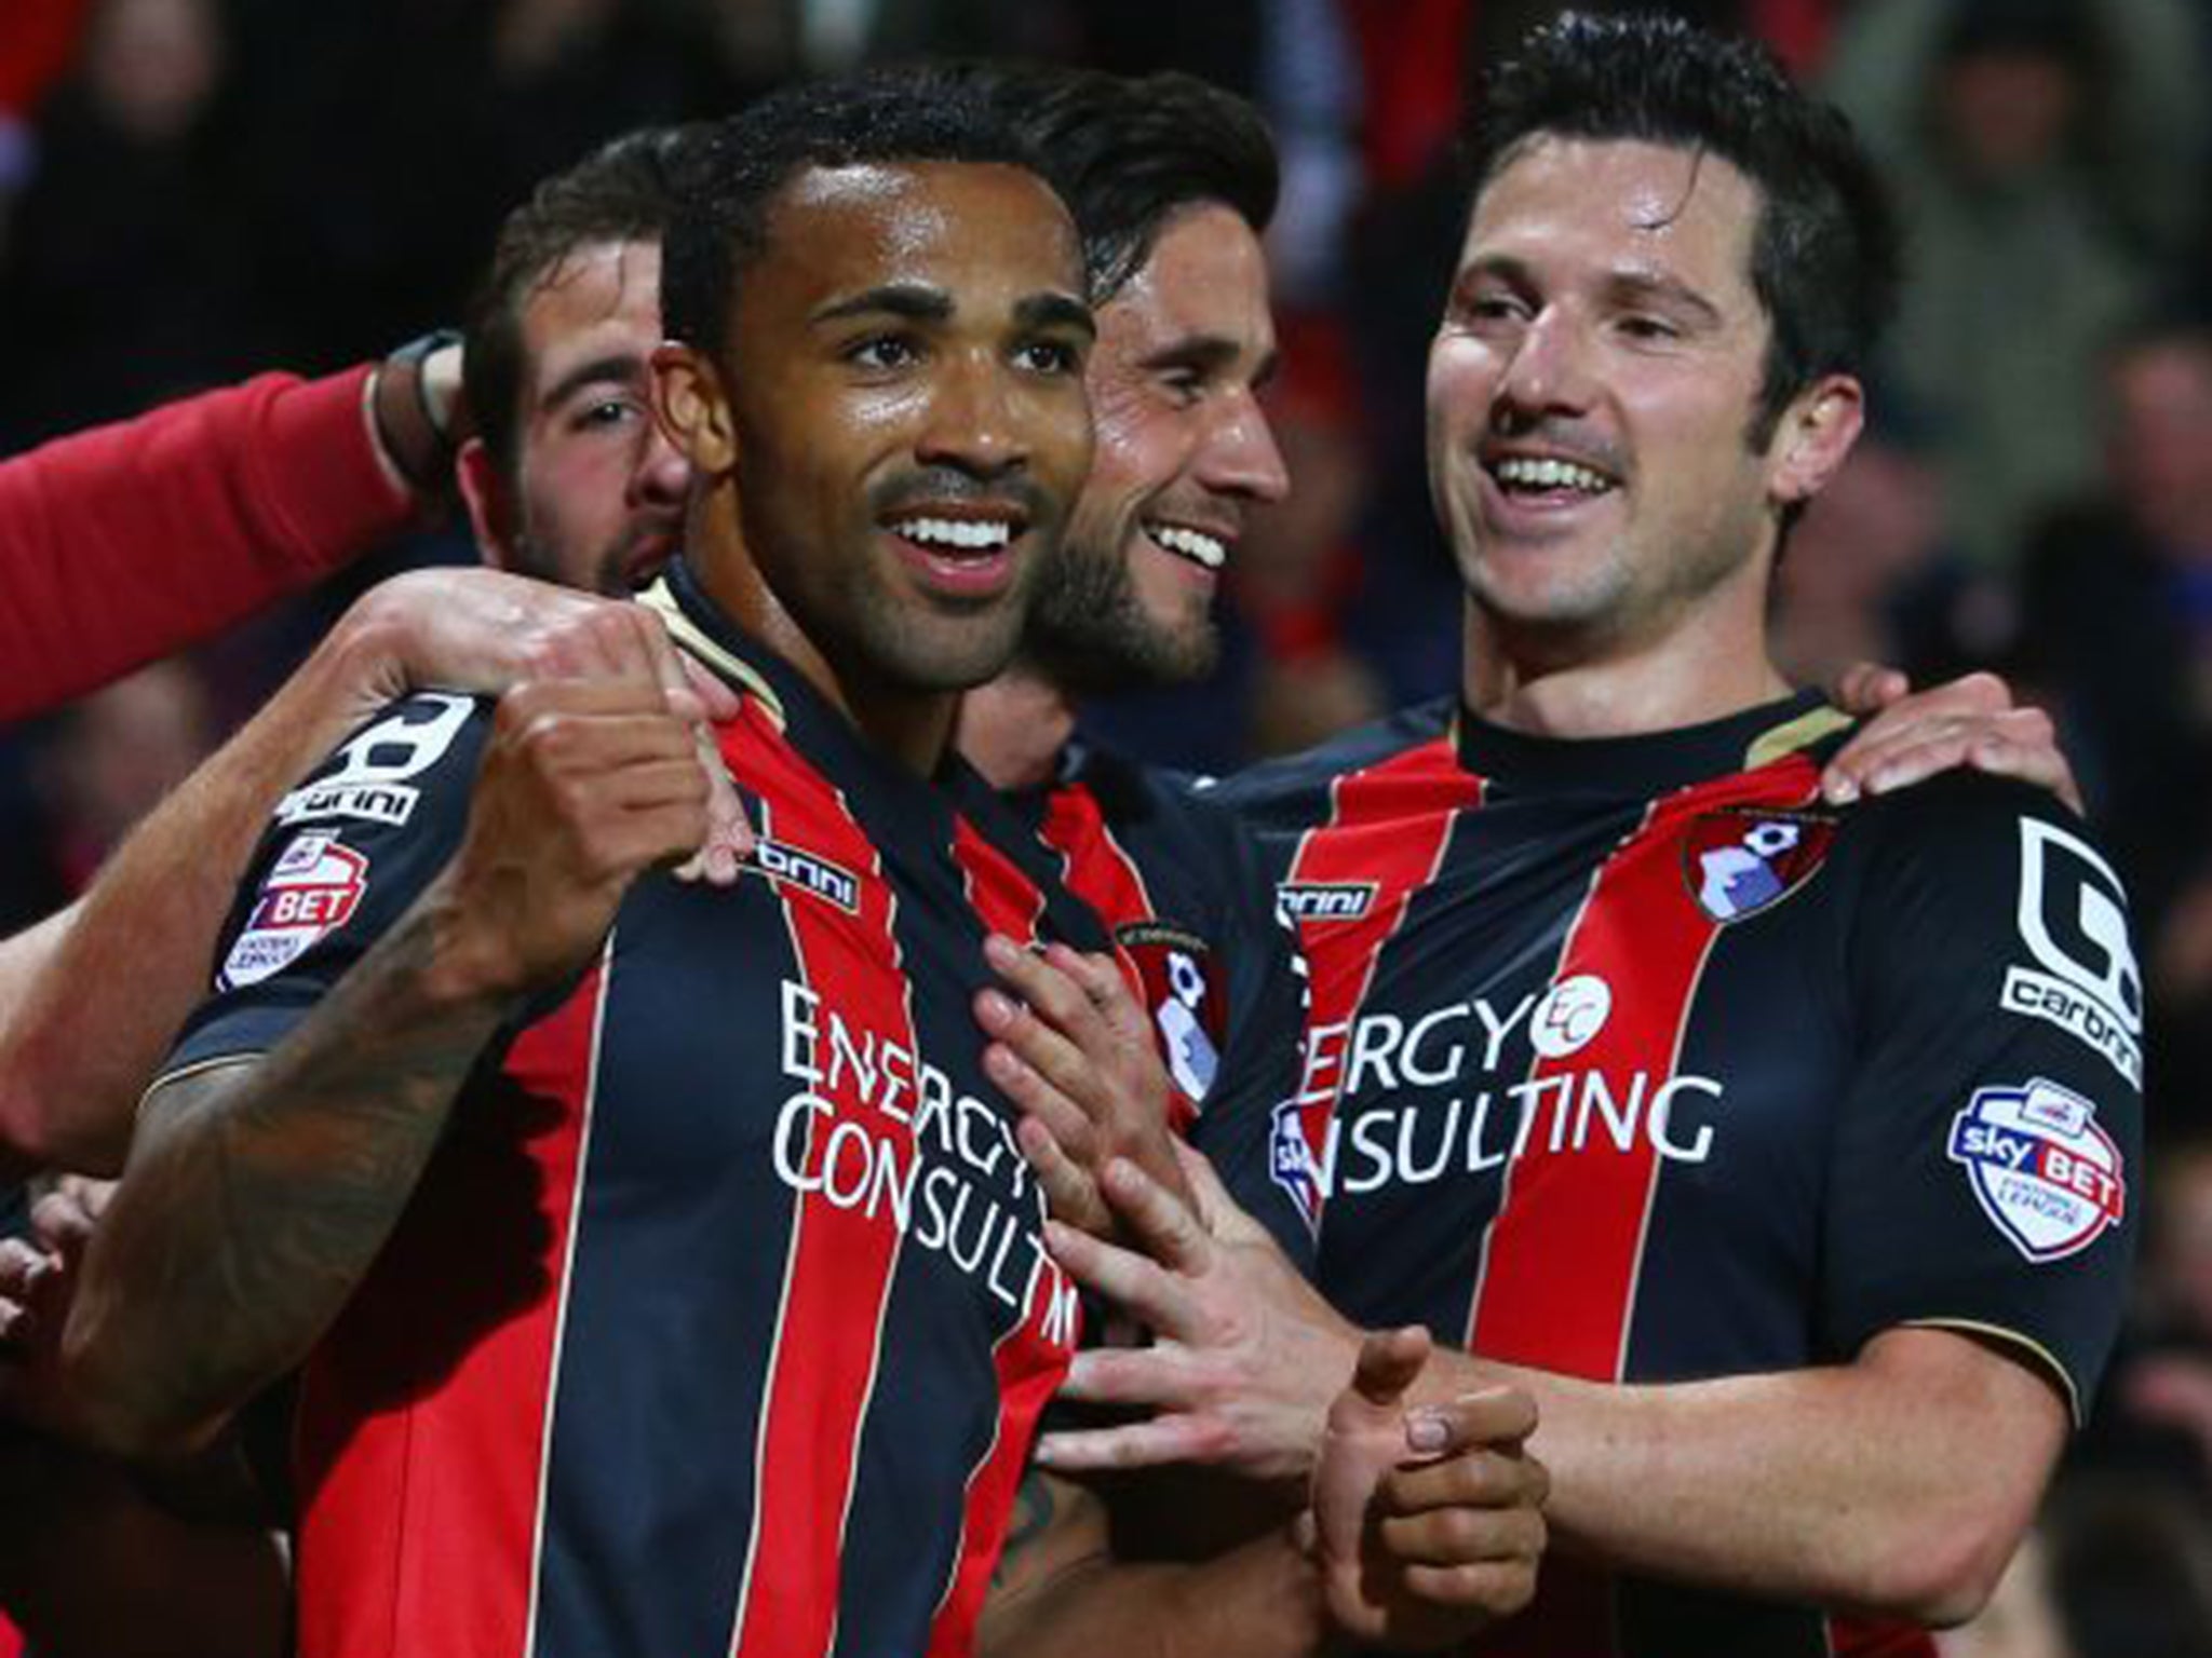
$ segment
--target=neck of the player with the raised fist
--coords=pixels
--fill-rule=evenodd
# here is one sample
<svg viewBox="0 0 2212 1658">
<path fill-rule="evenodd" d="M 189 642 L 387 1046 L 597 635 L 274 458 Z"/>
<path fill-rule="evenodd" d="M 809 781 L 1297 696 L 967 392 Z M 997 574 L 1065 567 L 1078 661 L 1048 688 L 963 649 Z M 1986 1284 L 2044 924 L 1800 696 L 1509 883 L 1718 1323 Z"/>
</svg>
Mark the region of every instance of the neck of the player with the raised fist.
<svg viewBox="0 0 2212 1658">
<path fill-rule="evenodd" d="M 832 661 L 783 608 L 752 562 L 728 493 L 708 495 L 690 513 L 686 546 L 706 595 L 739 628 L 799 670 L 867 743 L 916 776 L 931 776 L 953 741 L 960 692 L 925 692 Z"/>
</svg>

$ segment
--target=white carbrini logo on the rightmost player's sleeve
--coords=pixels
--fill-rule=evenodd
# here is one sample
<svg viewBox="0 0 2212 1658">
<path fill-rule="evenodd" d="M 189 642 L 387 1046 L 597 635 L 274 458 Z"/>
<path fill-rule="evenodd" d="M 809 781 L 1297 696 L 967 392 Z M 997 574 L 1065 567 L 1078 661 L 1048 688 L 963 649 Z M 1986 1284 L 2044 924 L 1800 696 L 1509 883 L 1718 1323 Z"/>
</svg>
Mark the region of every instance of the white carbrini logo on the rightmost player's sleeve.
<svg viewBox="0 0 2212 1658">
<path fill-rule="evenodd" d="M 2020 942 L 2000 1006 L 2095 1048 L 2143 1085 L 2143 975 L 2128 944 L 2128 893 L 2112 867 L 2064 829 L 2020 820 Z"/>
</svg>

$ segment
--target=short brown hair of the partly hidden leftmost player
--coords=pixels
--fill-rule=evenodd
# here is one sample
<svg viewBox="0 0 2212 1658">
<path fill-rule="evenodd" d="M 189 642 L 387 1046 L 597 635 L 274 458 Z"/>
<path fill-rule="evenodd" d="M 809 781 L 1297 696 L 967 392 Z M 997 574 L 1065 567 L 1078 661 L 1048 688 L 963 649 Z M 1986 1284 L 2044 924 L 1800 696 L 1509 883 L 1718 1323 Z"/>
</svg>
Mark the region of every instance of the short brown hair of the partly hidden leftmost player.
<svg viewBox="0 0 2212 1658">
<path fill-rule="evenodd" d="M 462 376 L 476 431 L 502 475 L 515 475 L 522 400 L 522 309 L 580 248 L 659 243 L 677 217 L 684 155 L 699 126 L 655 126 L 599 146 L 540 183 L 507 214 L 491 270 L 469 303 Z"/>
</svg>

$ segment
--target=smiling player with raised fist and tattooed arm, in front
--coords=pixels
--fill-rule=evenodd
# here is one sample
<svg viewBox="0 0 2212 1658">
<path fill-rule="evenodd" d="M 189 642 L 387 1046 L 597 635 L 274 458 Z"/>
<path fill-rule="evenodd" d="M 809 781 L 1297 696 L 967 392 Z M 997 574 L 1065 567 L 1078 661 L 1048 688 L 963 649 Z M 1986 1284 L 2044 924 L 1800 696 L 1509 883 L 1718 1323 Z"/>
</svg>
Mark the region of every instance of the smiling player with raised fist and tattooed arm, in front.
<svg viewBox="0 0 2212 1658">
<path fill-rule="evenodd" d="M 989 931 L 1106 937 L 947 752 L 1091 453 L 1075 230 L 933 80 L 703 166 L 657 389 L 748 878 L 655 869 L 699 765 L 619 663 L 394 707 L 265 842 L 86 1262 L 111 1439 L 305 1357 L 312 1658 L 960 1651 L 1075 1342 L 969 999 Z"/>
</svg>

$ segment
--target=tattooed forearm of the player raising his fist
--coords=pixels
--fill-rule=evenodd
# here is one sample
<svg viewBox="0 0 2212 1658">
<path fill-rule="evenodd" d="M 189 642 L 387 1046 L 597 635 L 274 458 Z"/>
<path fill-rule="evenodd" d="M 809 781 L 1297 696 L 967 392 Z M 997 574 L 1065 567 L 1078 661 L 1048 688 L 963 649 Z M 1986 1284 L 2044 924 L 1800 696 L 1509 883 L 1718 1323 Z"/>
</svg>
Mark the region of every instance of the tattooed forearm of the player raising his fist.
<svg viewBox="0 0 2212 1658">
<path fill-rule="evenodd" d="M 126 1419 L 212 1426 L 367 1273 L 502 1015 L 434 1004 L 429 962 L 418 904 L 265 1059 L 148 1101 L 71 1318 L 82 1384 Z"/>
</svg>

